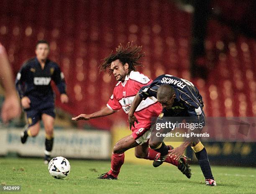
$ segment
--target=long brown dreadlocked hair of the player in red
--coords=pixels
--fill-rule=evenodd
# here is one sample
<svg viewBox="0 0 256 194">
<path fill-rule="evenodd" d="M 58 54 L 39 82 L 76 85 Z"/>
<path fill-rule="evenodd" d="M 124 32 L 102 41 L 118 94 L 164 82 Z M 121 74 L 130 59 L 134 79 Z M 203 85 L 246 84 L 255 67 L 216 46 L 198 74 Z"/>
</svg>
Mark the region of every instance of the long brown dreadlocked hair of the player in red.
<svg viewBox="0 0 256 194">
<path fill-rule="evenodd" d="M 136 71 L 136 66 L 143 66 L 141 64 L 141 57 L 145 56 L 145 53 L 141 52 L 142 46 L 133 46 L 133 43 L 128 42 L 127 45 L 125 47 L 122 46 L 122 44 L 120 43 L 120 45 L 118 46 L 118 48 L 115 48 L 116 53 L 110 54 L 110 56 L 106 57 L 104 60 L 104 62 L 102 64 L 100 64 L 99 68 L 100 71 L 107 71 L 109 70 L 109 73 L 111 74 L 112 71 L 110 71 L 110 66 L 111 63 L 117 59 L 119 59 L 119 61 L 124 65 L 125 63 L 129 64 L 129 71 L 128 74 L 131 73 L 131 71 Z"/>
</svg>

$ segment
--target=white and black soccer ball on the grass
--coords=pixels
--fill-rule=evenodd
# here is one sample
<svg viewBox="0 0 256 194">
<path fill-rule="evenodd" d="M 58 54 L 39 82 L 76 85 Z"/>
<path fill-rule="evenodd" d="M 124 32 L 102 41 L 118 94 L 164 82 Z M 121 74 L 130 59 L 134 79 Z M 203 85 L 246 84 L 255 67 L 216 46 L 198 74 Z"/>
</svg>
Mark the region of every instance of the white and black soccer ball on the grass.
<svg viewBox="0 0 256 194">
<path fill-rule="evenodd" d="M 48 170 L 55 179 L 63 179 L 70 172 L 69 161 L 61 156 L 52 158 L 48 164 Z"/>
</svg>

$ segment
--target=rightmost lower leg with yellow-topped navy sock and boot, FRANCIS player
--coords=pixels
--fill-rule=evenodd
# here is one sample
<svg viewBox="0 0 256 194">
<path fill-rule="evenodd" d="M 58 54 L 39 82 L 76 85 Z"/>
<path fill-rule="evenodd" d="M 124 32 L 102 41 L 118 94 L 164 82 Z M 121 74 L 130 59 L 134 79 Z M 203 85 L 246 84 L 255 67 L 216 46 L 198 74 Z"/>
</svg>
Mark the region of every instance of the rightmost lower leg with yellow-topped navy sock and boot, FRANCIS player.
<svg viewBox="0 0 256 194">
<path fill-rule="evenodd" d="M 204 145 L 202 145 L 199 139 L 196 139 L 190 144 L 190 146 L 192 150 L 195 152 L 202 173 L 205 176 L 205 184 L 207 186 L 216 186 L 217 184 L 216 181 L 214 180 L 214 177 L 212 176 L 209 158 Z"/>
</svg>

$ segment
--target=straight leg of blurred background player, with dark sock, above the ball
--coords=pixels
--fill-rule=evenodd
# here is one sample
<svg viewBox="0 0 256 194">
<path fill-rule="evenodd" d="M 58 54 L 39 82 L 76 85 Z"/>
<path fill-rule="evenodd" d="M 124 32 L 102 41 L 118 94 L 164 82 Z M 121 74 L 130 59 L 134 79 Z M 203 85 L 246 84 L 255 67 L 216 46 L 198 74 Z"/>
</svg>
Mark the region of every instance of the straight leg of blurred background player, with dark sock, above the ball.
<svg viewBox="0 0 256 194">
<path fill-rule="evenodd" d="M 53 148 L 54 143 L 54 117 L 43 114 L 42 120 L 44 123 L 44 129 L 45 129 L 45 157 L 44 157 L 44 163 L 48 164 L 51 160 L 51 151 Z"/>
</svg>

